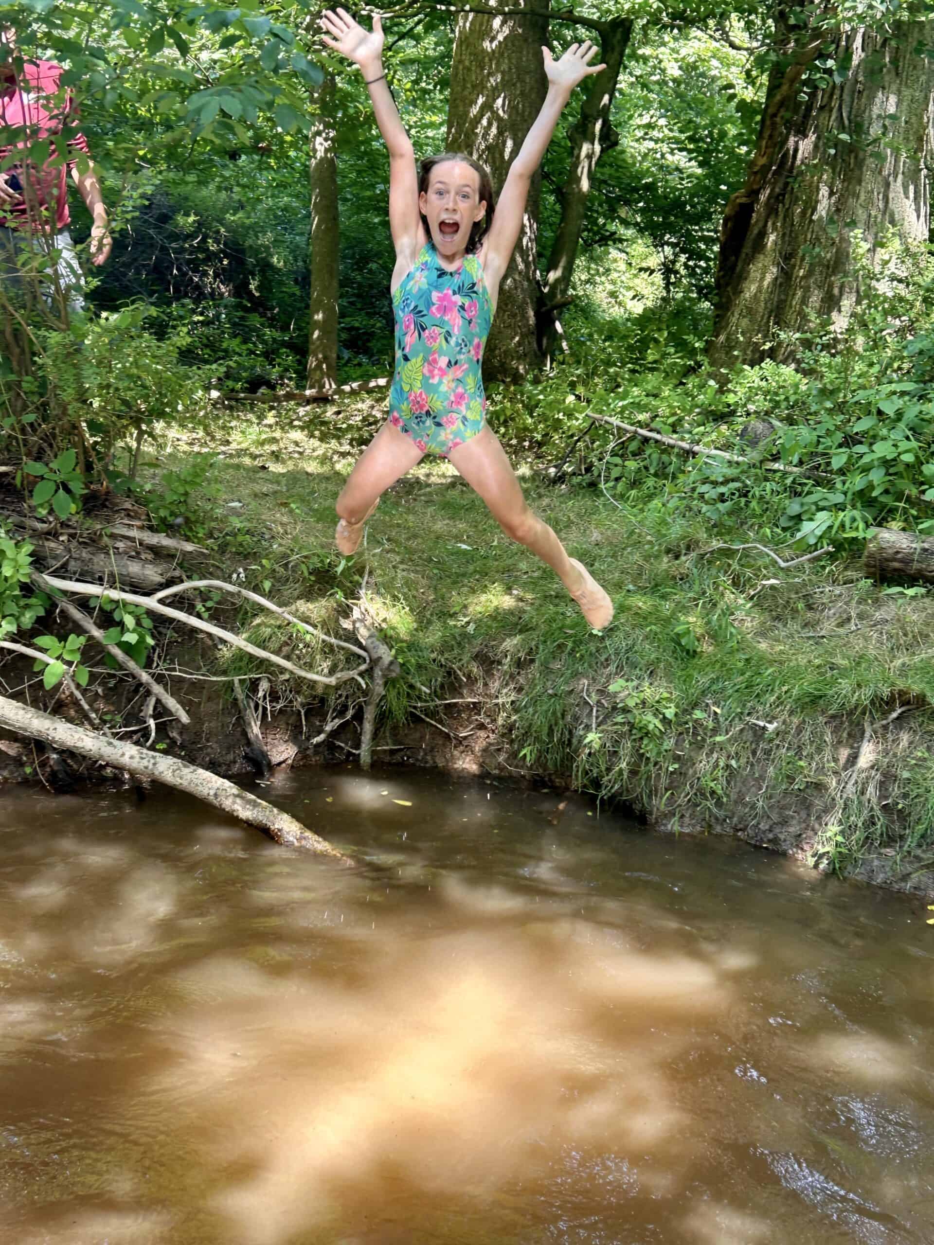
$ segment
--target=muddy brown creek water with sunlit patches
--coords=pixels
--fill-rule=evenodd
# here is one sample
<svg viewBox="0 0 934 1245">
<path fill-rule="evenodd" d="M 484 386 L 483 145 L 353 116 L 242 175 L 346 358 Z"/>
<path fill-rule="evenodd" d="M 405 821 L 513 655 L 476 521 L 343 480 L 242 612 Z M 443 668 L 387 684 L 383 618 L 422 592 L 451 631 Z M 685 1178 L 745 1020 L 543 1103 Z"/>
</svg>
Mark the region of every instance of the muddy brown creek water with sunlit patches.
<svg viewBox="0 0 934 1245">
<path fill-rule="evenodd" d="M 412 772 L 0 797 L 2 1245 L 934 1241 L 934 926 Z M 407 802 L 407 803 L 401 803 Z"/>
</svg>

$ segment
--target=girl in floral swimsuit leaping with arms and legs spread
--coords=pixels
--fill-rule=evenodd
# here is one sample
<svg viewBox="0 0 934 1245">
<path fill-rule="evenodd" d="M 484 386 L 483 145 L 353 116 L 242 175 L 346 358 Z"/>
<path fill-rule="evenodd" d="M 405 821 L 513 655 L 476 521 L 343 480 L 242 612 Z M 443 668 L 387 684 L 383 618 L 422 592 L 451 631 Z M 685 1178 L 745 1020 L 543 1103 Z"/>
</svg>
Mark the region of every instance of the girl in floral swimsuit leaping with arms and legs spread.
<svg viewBox="0 0 934 1245">
<path fill-rule="evenodd" d="M 501 528 L 526 545 L 568 589 L 592 627 L 613 619 L 613 603 L 547 523 L 533 514 L 486 422 L 481 364 L 499 283 L 522 230 L 529 183 L 570 92 L 603 65 L 597 49 L 572 44 L 559 61 L 547 47 L 548 95 L 493 200 L 489 174 L 469 156 L 446 152 L 421 163 L 402 126 L 382 68 L 382 21 L 365 31 L 344 9 L 328 10 L 328 47 L 362 71 L 376 123 L 390 153 L 390 229 L 396 248 L 392 306 L 396 370 L 390 416 L 354 467 L 337 498 L 335 540 L 356 552 L 382 493 L 423 454 L 448 458 L 489 507 Z M 496 209 L 496 210 L 494 210 Z"/>
</svg>

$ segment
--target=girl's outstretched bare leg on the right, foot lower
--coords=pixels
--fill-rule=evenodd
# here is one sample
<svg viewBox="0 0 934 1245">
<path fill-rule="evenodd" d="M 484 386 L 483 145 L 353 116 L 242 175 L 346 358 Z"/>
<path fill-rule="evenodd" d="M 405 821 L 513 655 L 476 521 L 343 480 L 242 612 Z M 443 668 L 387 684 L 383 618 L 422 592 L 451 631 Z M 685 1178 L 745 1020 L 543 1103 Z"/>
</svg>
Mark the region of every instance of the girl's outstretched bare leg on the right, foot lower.
<svg viewBox="0 0 934 1245">
<path fill-rule="evenodd" d="M 503 532 L 547 563 L 580 606 L 590 626 L 613 619 L 613 603 L 595 579 L 573 558 L 554 532 L 529 508 L 516 472 L 497 435 L 486 426 L 450 453 L 451 462 L 489 507 Z"/>
</svg>

